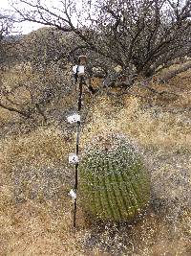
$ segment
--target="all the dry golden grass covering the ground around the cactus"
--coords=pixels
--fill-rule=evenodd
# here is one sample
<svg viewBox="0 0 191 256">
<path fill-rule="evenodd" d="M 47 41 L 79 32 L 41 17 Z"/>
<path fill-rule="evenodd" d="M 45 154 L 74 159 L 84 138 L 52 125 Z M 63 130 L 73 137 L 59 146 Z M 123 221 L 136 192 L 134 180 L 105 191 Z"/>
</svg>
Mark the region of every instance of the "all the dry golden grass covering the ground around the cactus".
<svg viewBox="0 0 191 256">
<path fill-rule="evenodd" d="M 0 255 L 190 255 L 190 83 L 187 71 L 169 84 L 155 84 L 178 96 L 155 95 L 152 106 L 135 96 L 99 96 L 86 113 L 82 151 L 95 134 L 119 130 L 144 156 L 151 206 L 131 224 L 91 226 L 79 209 L 74 231 L 67 195 L 74 182 L 67 164 L 73 132 L 52 124 L 15 135 L 9 122 L 18 116 L 0 109 L 1 126 L 8 127 L 0 140 Z M 132 94 L 154 97 L 138 86 Z"/>
</svg>

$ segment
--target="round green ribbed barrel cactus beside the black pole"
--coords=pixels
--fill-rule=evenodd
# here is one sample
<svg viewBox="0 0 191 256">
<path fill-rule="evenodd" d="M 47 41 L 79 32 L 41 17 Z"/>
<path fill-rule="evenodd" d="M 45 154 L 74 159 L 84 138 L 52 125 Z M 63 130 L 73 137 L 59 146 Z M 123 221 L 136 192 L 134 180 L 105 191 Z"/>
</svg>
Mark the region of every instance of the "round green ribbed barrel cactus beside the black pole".
<svg viewBox="0 0 191 256">
<path fill-rule="evenodd" d="M 129 140 L 119 134 L 96 137 L 79 167 L 79 194 L 91 219 L 131 221 L 146 207 L 146 168 Z"/>
</svg>

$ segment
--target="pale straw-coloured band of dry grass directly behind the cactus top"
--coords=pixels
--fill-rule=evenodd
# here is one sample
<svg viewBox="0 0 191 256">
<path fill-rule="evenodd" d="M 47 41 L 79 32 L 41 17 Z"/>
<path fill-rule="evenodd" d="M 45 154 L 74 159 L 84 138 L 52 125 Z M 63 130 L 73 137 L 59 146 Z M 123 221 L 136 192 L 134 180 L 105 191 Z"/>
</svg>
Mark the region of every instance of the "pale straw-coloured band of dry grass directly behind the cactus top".
<svg viewBox="0 0 191 256">
<path fill-rule="evenodd" d="M 123 132 L 144 148 L 171 151 L 190 151 L 191 130 L 187 114 L 163 112 L 159 106 L 142 108 L 135 97 L 124 100 L 115 109 L 101 99 L 92 109 L 92 122 L 84 128 L 84 139 L 91 139 L 105 130 Z M 103 109 L 108 109 L 103 111 Z"/>
</svg>

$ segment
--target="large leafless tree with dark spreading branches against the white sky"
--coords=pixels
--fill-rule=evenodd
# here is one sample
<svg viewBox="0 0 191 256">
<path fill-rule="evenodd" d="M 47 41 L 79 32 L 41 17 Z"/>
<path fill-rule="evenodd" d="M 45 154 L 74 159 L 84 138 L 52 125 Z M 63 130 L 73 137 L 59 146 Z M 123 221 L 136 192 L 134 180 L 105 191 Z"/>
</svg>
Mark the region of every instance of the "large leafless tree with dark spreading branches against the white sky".
<svg viewBox="0 0 191 256">
<path fill-rule="evenodd" d="M 82 0 L 80 6 L 75 0 L 53 6 L 40 0 L 16 2 L 20 21 L 74 32 L 80 38 L 76 50 L 94 53 L 105 85 L 118 80 L 129 87 L 138 76 L 152 77 L 191 50 L 190 0 Z"/>
</svg>

